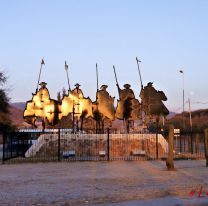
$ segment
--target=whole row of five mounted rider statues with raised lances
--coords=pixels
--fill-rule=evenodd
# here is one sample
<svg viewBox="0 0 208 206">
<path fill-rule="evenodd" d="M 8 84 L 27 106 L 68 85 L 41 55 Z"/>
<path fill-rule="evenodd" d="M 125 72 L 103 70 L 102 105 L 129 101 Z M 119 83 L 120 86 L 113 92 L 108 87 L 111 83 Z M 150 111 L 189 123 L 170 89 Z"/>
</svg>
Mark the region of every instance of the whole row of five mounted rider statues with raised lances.
<svg viewBox="0 0 208 206">
<path fill-rule="evenodd" d="M 97 92 L 96 101 L 92 103 L 89 97 L 85 98 L 80 85 L 75 84 L 75 88 L 71 90 L 68 65 L 65 61 L 65 70 L 68 81 L 68 94 L 63 95 L 63 98 L 59 98 L 59 101 L 50 98 L 49 91 L 46 88 L 46 83 L 40 81 L 42 66 L 45 65 L 44 60 L 41 61 L 41 67 L 38 77 L 38 86 L 35 94 L 33 94 L 32 100 L 28 101 L 24 111 L 24 118 L 30 124 L 35 126 L 37 119 L 42 121 L 42 127 L 45 128 L 45 123 L 49 125 L 55 125 L 64 116 L 72 115 L 73 128 L 75 120 L 77 122 L 77 128 L 79 121 L 81 121 L 81 129 L 84 119 L 92 117 L 96 120 L 96 129 L 104 131 L 104 120 L 108 119 L 110 123 L 115 119 L 124 120 L 126 124 L 126 130 L 129 132 L 130 123 L 134 123 L 134 120 L 142 118 L 142 112 L 146 117 L 167 116 L 169 114 L 168 109 L 164 105 L 163 101 L 167 100 L 163 91 L 157 91 L 152 82 L 149 82 L 146 87 L 143 88 L 141 72 L 139 63 L 141 62 L 136 58 L 139 77 L 141 82 L 141 104 L 138 99 L 135 98 L 134 92 L 131 89 L 130 84 L 124 84 L 124 88 L 121 89 L 118 84 L 116 70 L 114 69 L 116 85 L 119 93 L 119 100 L 117 101 L 117 108 L 114 108 L 115 97 L 110 96 L 107 91 L 107 85 L 102 85 L 98 89 L 98 65 L 96 64 L 97 74 Z M 41 86 L 38 90 L 39 85 Z M 59 95 L 60 96 L 60 95 Z"/>
</svg>

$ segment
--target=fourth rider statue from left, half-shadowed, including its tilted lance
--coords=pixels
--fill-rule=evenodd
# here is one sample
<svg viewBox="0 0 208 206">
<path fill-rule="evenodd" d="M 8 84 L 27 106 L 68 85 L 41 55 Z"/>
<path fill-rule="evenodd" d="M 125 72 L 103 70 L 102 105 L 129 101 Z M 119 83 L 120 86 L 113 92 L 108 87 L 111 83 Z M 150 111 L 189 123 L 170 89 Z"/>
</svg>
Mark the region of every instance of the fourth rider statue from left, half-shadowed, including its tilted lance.
<svg viewBox="0 0 208 206">
<path fill-rule="evenodd" d="M 114 67 L 115 72 L 115 67 Z M 116 77 L 116 72 L 115 72 Z M 133 90 L 130 88 L 130 84 L 124 84 L 124 89 L 119 87 L 117 77 L 116 77 L 116 85 L 119 93 L 118 105 L 116 108 L 116 118 L 124 120 L 126 123 L 126 130 L 129 132 L 130 123 L 134 120 L 137 120 L 141 117 L 140 115 L 140 103 L 135 98 Z"/>
</svg>

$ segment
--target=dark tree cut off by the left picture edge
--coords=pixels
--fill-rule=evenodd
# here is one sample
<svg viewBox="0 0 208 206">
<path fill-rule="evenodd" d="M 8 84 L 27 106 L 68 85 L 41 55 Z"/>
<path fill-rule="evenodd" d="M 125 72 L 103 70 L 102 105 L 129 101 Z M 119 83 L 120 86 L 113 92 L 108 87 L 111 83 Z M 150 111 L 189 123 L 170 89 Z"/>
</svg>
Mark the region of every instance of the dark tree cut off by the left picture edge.
<svg viewBox="0 0 208 206">
<path fill-rule="evenodd" d="M 5 89 L 7 77 L 0 71 L 0 131 L 5 131 L 11 127 L 9 118 L 9 97 Z"/>
</svg>

